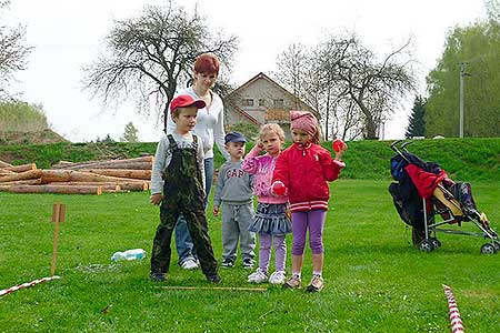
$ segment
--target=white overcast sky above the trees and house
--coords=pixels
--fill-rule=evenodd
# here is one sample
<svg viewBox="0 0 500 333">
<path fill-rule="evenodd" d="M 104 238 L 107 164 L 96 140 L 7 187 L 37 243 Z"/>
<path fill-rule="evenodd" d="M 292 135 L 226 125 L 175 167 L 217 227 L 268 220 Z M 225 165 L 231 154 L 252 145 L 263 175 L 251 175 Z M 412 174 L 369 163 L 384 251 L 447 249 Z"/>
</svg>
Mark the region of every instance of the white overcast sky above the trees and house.
<svg viewBox="0 0 500 333">
<path fill-rule="evenodd" d="M 11 0 L 2 24 L 24 24 L 26 44 L 33 50 L 28 69 L 18 72 L 12 90 L 29 103 L 39 103 L 50 128 L 72 142 L 119 140 L 127 123 L 140 141 L 158 141 L 161 123 L 136 112 L 133 101 L 104 108 L 82 90 L 82 68 L 103 51 L 113 20 L 140 14 L 159 0 Z M 188 11 L 197 6 L 211 31 L 239 37 L 239 51 L 229 77 L 240 85 L 258 74 L 276 71 L 277 58 L 291 43 L 316 46 L 328 34 L 354 31 L 380 54 L 412 39 L 418 63 L 419 93 L 424 78 L 443 51 L 447 32 L 484 17 L 482 0 L 177 0 Z M 6 21 L 7 20 L 7 21 Z M 384 127 L 383 139 L 404 135 L 413 95 Z M 156 114 L 154 111 L 151 114 Z"/>
</svg>

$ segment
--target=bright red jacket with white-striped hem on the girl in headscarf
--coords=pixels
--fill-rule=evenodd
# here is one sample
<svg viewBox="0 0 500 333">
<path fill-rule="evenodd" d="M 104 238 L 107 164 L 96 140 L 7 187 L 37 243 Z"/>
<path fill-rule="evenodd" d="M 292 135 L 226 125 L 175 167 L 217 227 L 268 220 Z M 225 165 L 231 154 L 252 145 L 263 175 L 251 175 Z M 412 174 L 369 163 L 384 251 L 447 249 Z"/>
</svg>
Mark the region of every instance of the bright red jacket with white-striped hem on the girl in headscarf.
<svg viewBox="0 0 500 333">
<path fill-rule="evenodd" d="M 319 144 L 293 143 L 278 158 L 272 181 L 281 181 L 288 189 L 292 212 L 328 210 L 328 182 L 338 179 L 343 167 L 343 162 L 332 160 L 330 152 Z"/>
</svg>

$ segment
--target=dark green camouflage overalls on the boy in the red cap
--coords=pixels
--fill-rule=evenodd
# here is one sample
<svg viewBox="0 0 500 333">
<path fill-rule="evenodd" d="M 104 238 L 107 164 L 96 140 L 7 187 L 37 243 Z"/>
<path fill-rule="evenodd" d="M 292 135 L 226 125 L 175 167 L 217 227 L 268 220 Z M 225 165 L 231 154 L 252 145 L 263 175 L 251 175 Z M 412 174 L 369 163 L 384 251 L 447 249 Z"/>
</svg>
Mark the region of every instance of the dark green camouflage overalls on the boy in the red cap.
<svg viewBox="0 0 500 333">
<path fill-rule="evenodd" d="M 193 135 L 190 148 L 179 148 L 168 135 L 172 159 L 163 172 L 163 200 L 160 205 L 160 225 L 153 240 L 151 272 L 167 273 L 170 266 L 170 241 L 176 222 L 182 213 L 200 260 L 204 275 L 217 274 L 217 260 L 208 234 L 204 214 L 204 190 L 197 161 L 198 140 Z"/>
</svg>

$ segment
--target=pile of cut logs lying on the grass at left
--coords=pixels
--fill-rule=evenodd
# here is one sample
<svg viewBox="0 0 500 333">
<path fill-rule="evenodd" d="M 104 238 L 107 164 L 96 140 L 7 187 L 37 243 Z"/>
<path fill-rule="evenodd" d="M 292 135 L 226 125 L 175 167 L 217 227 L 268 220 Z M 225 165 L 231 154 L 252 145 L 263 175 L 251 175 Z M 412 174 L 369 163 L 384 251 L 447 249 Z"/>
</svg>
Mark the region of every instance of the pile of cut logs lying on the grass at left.
<svg viewBox="0 0 500 333">
<path fill-rule="evenodd" d="M 11 165 L 0 160 L 0 192 L 97 194 L 147 191 L 153 157 L 73 163 L 60 161 L 49 170 L 34 163 Z"/>
</svg>

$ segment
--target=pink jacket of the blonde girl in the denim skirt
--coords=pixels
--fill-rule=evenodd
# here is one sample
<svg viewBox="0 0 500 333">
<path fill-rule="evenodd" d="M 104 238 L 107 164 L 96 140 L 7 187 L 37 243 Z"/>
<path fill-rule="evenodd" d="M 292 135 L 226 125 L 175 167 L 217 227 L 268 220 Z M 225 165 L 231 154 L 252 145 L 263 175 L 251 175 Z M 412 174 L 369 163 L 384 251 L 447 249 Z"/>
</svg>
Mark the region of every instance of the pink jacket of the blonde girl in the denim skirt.
<svg viewBox="0 0 500 333">
<path fill-rule="evenodd" d="M 243 171 L 254 174 L 253 192 L 262 203 L 286 203 L 288 196 L 273 196 L 271 194 L 272 172 L 274 171 L 278 158 L 270 154 L 259 155 L 260 148 L 254 145 L 252 150 L 244 157 L 241 168 Z"/>
</svg>

